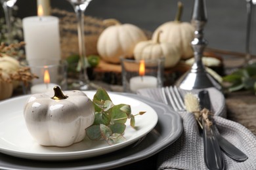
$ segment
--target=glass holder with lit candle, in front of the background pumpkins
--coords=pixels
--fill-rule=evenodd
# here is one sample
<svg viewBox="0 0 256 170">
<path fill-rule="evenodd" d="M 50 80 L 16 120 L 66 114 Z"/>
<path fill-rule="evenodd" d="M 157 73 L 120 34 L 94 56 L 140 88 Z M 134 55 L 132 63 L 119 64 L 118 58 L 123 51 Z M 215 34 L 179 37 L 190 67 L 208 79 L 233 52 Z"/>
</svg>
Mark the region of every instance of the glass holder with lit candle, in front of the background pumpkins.
<svg viewBox="0 0 256 170">
<path fill-rule="evenodd" d="M 123 92 L 136 93 L 142 88 L 163 86 L 164 58 L 125 59 L 121 58 Z"/>
</svg>

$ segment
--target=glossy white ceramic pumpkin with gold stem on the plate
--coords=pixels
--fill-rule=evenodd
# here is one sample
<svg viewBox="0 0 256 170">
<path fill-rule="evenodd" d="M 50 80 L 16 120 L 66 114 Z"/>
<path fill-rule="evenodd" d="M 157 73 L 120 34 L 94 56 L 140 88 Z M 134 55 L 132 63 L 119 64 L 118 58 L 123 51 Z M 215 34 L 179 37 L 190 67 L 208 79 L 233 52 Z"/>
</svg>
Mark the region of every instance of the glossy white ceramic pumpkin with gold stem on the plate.
<svg viewBox="0 0 256 170">
<path fill-rule="evenodd" d="M 85 93 L 73 90 L 62 93 L 37 93 L 24 106 L 24 118 L 32 137 L 44 146 L 70 146 L 82 141 L 85 129 L 95 119 L 93 102 Z"/>
</svg>

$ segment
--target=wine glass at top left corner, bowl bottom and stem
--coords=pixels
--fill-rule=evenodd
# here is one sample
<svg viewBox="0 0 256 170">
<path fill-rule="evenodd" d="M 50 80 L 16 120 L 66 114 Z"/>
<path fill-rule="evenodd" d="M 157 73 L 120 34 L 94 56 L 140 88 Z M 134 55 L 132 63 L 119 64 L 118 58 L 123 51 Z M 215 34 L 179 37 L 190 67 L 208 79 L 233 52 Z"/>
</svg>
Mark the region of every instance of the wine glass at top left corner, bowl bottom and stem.
<svg viewBox="0 0 256 170">
<path fill-rule="evenodd" d="M 7 43 L 11 44 L 12 38 L 12 7 L 15 5 L 17 0 L 0 0 L 3 10 L 5 12 L 5 22 L 7 25 Z"/>
</svg>

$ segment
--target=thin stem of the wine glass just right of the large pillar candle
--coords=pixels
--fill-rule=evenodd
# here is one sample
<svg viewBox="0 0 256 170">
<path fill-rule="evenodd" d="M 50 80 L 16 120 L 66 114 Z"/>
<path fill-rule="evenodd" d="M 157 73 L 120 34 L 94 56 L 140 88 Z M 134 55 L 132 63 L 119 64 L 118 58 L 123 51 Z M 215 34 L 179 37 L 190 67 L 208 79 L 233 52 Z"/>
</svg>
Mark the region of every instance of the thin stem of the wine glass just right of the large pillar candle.
<svg viewBox="0 0 256 170">
<path fill-rule="evenodd" d="M 89 78 L 87 75 L 87 69 L 85 65 L 86 52 L 85 52 L 85 33 L 84 33 L 84 12 L 88 4 L 75 5 L 75 14 L 77 16 L 77 34 L 78 34 L 78 46 L 79 46 L 79 56 L 81 71 L 79 79 L 84 84 L 89 84 Z"/>
</svg>

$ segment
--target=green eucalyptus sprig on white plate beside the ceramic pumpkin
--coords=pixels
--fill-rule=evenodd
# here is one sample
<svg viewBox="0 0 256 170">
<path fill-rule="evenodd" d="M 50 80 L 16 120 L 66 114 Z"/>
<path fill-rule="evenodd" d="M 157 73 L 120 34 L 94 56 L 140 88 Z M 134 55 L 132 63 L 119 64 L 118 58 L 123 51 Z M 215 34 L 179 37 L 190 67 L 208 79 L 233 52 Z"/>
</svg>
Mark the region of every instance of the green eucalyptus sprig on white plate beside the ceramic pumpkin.
<svg viewBox="0 0 256 170">
<path fill-rule="evenodd" d="M 95 121 L 86 129 L 87 136 L 91 140 L 104 139 L 108 144 L 116 144 L 125 141 L 123 134 L 126 129 L 125 122 L 130 119 L 131 127 L 135 127 L 135 116 L 145 112 L 131 114 L 131 106 L 126 104 L 114 105 L 110 96 L 103 88 L 96 91 L 93 97 L 95 105 Z"/>
</svg>

